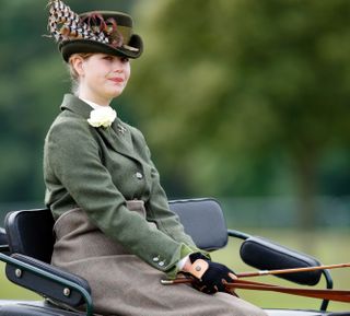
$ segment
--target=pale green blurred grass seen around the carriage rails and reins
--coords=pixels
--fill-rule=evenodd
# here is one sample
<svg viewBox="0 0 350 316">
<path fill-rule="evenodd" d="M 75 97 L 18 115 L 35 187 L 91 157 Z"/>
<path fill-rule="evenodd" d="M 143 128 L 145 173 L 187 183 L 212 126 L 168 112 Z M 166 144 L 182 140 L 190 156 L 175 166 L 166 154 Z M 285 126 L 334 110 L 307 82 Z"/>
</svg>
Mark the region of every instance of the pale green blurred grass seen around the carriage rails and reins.
<svg viewBox="0 0 350 316">
<path fill-rule="evenodd" d="M 290 230 L 252 230 L 247 233 L 268 237 L 275 242 L 300 251 L 307 250 L 308 254 L 319 259 L 324 265 L 343 264 L 350 261 L 349 232 L 324 231 L 295 234 L 295 232 Z M 240 241 L 231 239 L 224 249 L 213 253 L 212 257 L 214 260 L 226 264 L 236 272 L 253 271 L 253 268 L 244 265 L 241 261 L 238 255 L 240 246 Z M 307 249 L 305 249 L 305 247 L 307 247 Z M 39 300 L 38 295 L 10 283 L 4 277 L 3 265 L 1 265 L 1 300 Z M 350 268 L 331 270 L 331 276 L 335 282 L 335 289 L 350 290 Z M 255 278 L 255 280 L 285 286 L 301 286 L 275 277 L 260 277 Z M 315 289 L 324 288 L 325 283 L 322 281 L 320 284 Z M 320 301 L 316 299 L 306 299 L 273 292 L 238 290 L 237 294 L 242 299 L 261 307 L 317 309 L 320 306 Z M 330 302 L 328 309 L 335 312 L 350 311 L 350 304 Z"/>
</svg>

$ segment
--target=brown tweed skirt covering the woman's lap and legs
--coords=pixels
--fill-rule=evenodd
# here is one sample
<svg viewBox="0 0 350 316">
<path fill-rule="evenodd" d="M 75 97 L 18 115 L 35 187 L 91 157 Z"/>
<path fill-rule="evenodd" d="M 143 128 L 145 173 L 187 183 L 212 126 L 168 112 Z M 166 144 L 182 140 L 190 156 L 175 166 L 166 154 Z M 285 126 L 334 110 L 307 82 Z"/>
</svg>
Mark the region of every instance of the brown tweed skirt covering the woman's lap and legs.
<svg viewBox="0 0 350 316">
<path fill-rule="evenodd" d="M 129 209 L 137 210 L 132 204 Z M 262 309 L 225 293 L 208 295 L 186 284 L 162 285 L 163 272 L 107 238 L 81 209 L 61 215 L 54 230 L 52 265 L 88 280 L 97 314 L 266 316 Z"/>
</svg>

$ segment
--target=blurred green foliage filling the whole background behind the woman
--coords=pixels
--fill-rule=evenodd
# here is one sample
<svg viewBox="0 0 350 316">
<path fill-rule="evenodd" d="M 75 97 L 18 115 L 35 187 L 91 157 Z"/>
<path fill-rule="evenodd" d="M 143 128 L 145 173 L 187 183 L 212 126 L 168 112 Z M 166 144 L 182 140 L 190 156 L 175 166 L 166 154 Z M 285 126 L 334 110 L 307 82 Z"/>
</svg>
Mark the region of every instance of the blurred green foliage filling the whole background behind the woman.
<svg viewBox="0 0 350 316">
<path fill-rule="evenodd" d="M 170 197 L 218 197 L 230 226 L 300 227 L 296 247 L 327 264 L 305 233 L 341 226 L 331 241 L 347 247 L 350 1 L 66 2 L 135 17 L 145 50 L 114 106 L 144 132 Z M 43 142 L 70 83 L 43 36 L 46 1 L 1 0 L 0 21 L 0 202 L 42 206 Z"/>
</svg>

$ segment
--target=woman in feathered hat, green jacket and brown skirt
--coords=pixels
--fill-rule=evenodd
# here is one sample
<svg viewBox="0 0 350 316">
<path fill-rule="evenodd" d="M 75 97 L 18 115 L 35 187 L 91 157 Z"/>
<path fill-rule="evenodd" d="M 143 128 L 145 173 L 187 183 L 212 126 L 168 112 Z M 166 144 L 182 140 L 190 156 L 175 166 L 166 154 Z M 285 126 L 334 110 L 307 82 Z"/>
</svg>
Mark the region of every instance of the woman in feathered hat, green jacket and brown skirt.
<svg viewBox="0 0 350 316">
<path fill-rule="evenodd" d="M 49 31 L 69 65 L 67 94 L 44 152 L 46 204 L 56 219 L 52 265 L 85 278 L 104 315 L 265 315 L 225 293 L 233 271 L 212 262 L 170 211 L 142 133 L 109 106 L 142 54 L 120 12 L 80 16 L 50 1 Z M 185 272 L 196 289 L 163 286 Z"/>
</svg>

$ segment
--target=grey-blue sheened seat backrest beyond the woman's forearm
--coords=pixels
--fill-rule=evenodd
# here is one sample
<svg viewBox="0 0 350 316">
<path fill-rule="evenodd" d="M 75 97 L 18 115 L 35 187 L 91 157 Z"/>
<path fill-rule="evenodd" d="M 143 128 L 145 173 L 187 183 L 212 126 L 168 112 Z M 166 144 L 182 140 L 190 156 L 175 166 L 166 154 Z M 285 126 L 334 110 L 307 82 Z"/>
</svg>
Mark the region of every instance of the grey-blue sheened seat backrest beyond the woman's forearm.
<svg viewBox="0 0 350 316">
<path fill-rule="evenodd" d="M 199 248 L 217 250 L 228 244 L 226 222 L 215 199 L 173 200 L 170 208 L 178 214 L 185 232 Z"/>
</svg>

